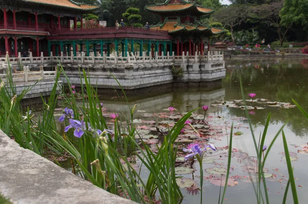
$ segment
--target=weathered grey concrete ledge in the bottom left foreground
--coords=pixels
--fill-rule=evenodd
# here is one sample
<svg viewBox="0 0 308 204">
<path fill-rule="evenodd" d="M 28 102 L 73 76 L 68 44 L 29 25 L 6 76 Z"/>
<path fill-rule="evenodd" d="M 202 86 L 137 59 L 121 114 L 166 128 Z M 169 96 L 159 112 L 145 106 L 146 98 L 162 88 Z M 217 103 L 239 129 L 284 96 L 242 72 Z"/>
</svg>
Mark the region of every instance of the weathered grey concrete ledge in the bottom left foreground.
<svg viewBox="0 0 308 204">
<path fill-rule="evenodd" d="M 133 204 L 21 148 L 0 130 L 0 192 L 13 203 Z"/>
</svg>

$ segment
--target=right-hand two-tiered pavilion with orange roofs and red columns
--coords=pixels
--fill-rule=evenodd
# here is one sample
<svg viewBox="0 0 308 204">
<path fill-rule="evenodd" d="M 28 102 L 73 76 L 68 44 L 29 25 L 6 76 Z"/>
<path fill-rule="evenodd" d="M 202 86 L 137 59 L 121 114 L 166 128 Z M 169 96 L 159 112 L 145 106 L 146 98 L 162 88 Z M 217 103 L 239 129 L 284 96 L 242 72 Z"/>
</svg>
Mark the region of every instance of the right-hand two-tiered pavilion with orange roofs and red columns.
<svg viewBox="0 0 308 204">
<path fill-rule="evenodd" d="M 214 10 L 199 6 L 194 0 L 166 0 L 165 3 L 145 8 L 161 16 L 161 22 L 152 26 L 151 30 L 168 31 L 173 36 L 177 55 L 183 51 L 188 51 L 189 55 L 195 51 L 204 53 L 204 42 L 208 42 L 211 35 L 224 32 L 201 23 L 200 17 Z"/>
</svg>

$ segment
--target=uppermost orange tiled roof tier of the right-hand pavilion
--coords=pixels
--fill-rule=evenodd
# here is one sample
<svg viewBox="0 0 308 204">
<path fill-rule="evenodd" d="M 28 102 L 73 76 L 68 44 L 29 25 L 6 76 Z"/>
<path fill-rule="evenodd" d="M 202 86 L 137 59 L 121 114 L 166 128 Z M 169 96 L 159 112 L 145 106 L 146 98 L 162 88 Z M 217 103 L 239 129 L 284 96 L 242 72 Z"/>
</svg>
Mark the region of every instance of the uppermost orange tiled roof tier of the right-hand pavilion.
<svg viewBox="0 0 308 204">
<path fill-rule="evenodd" d="M 158 5 L 145 6 L 145 9 L 154 13 L 167 13 L 178 11 L 191 11 L 191 13 L 207 14 L 214 11 L 214 9 L 204 8 L 197 5 L 195 2 L 185 0 L 167 0 L 165 3 Z"/>
</svg>

